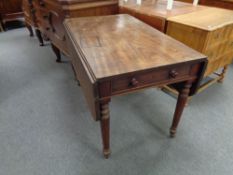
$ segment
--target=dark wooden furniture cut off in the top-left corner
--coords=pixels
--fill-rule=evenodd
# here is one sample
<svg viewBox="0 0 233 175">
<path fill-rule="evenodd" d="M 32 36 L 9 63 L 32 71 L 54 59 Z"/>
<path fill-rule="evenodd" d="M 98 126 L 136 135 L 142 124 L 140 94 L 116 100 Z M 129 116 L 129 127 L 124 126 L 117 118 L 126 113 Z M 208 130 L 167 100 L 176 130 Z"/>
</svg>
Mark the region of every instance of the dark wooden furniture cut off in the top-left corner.
<svg viewBox="0 0 233 175">
<path fill-rule="evenodd" d="M 0 1 L 0 28 L 5 30 L 7 21 L 14 21 L 23 17 L 22 0 L 1 0 Z"/>
</svg>

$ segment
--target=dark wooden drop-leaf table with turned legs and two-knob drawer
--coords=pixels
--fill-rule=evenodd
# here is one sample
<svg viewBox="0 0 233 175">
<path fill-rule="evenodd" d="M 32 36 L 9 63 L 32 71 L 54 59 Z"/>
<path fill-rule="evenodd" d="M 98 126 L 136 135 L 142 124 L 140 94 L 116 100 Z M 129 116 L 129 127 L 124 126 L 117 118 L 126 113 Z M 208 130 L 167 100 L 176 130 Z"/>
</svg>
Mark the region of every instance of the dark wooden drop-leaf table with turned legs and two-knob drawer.
<svg viewBox="0 0 233 175">
<path fill-rule="evenodd" d="M 109 103 L 116 95 L 173 84 L 180 93 L 170 128 L 175 136 L 206 56 L 129 15 L 72 18 L 64 25 L 77 79 L 101 124 L 104 156 L 110 154 Z"/>
</svg>

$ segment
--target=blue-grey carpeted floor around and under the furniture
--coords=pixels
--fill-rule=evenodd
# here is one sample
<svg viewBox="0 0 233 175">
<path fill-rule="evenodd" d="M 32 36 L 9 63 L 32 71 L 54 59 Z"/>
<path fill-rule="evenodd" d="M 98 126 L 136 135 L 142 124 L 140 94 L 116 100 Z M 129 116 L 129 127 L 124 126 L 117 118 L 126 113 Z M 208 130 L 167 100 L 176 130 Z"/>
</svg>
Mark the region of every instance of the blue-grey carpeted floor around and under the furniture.
<svg viewBox="0 0 233 175">
<path fill-rule="evenodd" d="M 0 175 L 233 174 L 233 65 L 193 98 L 174 139 L 174 98 L 156 89 L 113 98 L 105 160 L 99 123 L 69 63 L 55 59 L 25 28 L 0 33 Z"/>
</svg>

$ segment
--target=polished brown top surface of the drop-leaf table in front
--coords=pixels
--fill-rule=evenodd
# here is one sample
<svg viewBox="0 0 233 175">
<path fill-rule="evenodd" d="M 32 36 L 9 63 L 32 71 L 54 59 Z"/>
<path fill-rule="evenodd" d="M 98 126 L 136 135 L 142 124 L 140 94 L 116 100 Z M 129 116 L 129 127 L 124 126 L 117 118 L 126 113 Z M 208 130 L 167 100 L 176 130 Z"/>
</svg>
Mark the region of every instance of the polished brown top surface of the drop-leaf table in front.
<svg viewBox="0 0 233 175">
<path fill-rule="evenodd" d="M 129 15 L 67 19 L 65 26 L 94 79 L 205 57 Z"/>
</svg>

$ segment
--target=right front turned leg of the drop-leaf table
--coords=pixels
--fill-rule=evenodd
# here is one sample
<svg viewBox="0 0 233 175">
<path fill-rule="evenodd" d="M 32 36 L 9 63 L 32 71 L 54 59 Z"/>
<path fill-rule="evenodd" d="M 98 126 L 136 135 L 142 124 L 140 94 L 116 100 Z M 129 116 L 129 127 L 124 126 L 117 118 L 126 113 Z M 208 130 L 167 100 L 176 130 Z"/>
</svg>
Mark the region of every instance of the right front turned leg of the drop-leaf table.
<svg viewBox="0 0 233 175">
<path fill-rule="evenodd" d="M 184 84 L 183 89 L 179 93 L 177 104 L 176 104 L 176 110 L 175 110 L 173 121 L 172 121 L 172 126 L 170 128 L 171 137 L 175 137 L 177 126 L 179 124 L 185 105 L 187 104 L 191 86 L 192 86 L 192 82 L 187 81 Z"/>
</svg>

